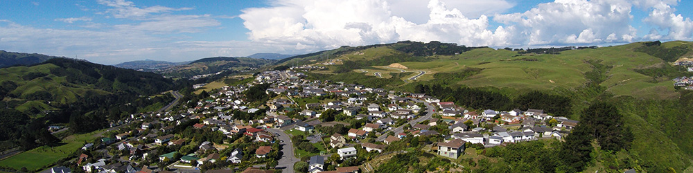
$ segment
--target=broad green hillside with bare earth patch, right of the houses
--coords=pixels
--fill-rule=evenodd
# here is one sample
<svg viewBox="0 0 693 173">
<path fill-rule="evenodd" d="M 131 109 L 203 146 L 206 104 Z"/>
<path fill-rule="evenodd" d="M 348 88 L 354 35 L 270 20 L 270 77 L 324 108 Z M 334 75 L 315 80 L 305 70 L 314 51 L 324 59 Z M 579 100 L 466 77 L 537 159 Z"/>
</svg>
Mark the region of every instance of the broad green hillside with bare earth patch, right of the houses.
<svg viewBox="0 0 693 173">
<path fill-rule="evenodd" d="M 649 172 L 664 172 L 669 167 L 683 172 L 693 170 L 693 119 L 686 116 L 691 113 L 692 94 L 675 89 L 672 79 L 693 73 L 672 62 L 693 60 L 688 59 L 693 57 L 692 45 L 636 42 L 600 48 L 495 50 L 398 42 L 344 46 L 289 57 L 278 64 L 326 66 L 308 71 L 308 75 L 424 92 L 468 109 L 509 110 L 520 107 L 520 98 L 527 98 L 526 94 L 540 91 L 570 100 L 571 107 L 565 108 L 569 110 L 556 111 L 561 115 L 554 116 L 579 120 L 581 110 L 593 102 L 613 102 L 635 136 L 630 149 L 618 152 L 618 158 L 632 158 Z M 587 170 L 608 170 L 605 165 L 612 164 L 599 160 L 602 156 L 595 159 L 596 164 Z"/>
</svg>

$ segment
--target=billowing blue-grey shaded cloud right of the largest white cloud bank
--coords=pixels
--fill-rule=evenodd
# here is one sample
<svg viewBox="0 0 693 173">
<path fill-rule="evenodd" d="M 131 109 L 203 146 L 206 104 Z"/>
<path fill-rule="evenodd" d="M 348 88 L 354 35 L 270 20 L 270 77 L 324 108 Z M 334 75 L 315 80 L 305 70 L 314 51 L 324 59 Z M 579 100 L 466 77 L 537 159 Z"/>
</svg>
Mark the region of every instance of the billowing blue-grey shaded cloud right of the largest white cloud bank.
<svg viewBox="0 0 693 173">
<path fill-rule="evenodd" d="M 494 20 L 516 25 L 514 37 L 524 38 L 523 44 L 599 44 L 631 42 L 636 30 L 630 12 L 631 4 L 620 0 L 556 0 Z"/>
</svg>

